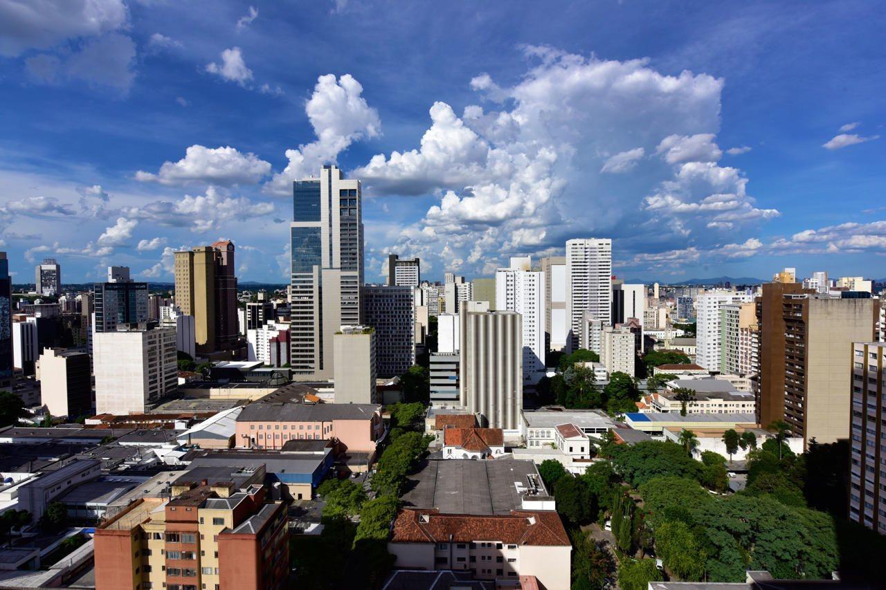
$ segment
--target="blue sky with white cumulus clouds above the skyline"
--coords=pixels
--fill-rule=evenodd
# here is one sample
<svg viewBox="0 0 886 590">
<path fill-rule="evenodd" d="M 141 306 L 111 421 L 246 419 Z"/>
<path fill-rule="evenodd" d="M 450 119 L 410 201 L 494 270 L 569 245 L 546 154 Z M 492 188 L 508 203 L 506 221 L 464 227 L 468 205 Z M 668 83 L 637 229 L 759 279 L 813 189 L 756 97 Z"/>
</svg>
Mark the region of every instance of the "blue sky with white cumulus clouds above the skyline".
<svg viewBox="0 0 886 590">
<path fill-rule="evenodd" d="M 618 276 L 886 277 L 876 1 L 0 0 L 13 281 L 288 281 L 291 181 L 363 182 L 365 265 L 492 276 L 611 237 Z"/>
</svg>

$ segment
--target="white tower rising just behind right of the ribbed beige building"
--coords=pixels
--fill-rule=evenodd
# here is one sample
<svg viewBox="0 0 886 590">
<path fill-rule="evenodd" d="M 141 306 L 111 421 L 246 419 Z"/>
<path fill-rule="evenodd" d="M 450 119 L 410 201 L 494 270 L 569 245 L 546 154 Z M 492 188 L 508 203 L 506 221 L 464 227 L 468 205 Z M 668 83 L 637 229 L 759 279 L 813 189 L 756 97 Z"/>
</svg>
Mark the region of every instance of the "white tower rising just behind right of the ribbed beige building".
<svg viewBox="0 0 886 590">
<path fill-rule="evenodd" d="M 531 268 L 527 256 L 495 271 L 495 309 L 523 316 L 524 379 L 545 369 L 545 276 Z"/>
</svg>

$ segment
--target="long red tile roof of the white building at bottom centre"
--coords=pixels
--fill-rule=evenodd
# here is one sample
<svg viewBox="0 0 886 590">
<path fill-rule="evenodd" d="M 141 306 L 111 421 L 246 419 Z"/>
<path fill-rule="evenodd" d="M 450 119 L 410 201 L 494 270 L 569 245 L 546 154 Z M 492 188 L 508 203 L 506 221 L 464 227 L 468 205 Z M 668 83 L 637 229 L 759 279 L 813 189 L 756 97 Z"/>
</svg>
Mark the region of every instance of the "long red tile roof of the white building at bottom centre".
<svg viewBox="0 0 886 590">
<path fill-rule="evenodd" d="M 439 514 L 438 510 L 401 509 L 394 520 L 391 537 L 392 543 L 470 543 L 478 540 L 510 545 L 570 544 L 563 522 L 554 511 L 512 510 L 509 515 L 472 516 Z"/>
</svg>

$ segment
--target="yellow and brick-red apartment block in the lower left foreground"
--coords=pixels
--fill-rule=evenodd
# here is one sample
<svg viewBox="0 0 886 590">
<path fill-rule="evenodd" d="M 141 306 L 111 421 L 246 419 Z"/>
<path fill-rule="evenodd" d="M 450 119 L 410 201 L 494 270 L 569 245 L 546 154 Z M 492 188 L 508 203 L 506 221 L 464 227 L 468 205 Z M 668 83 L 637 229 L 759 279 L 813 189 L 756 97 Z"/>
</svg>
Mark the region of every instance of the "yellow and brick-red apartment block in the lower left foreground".
<svg viewBox="0 0 886 590">
<path fill-rule="evenodd" d="M 265 470 L 195 469 L 194 481 L 176 481 L 171 497 L 158 493 L 130 503 L 96 529 L 96 587 L 284 588 L 287 503 L 270 500 L 260 479 L 242 486 L 231 481 L 253 482 L 254 474 L 264 477 Z"/>
</svg>

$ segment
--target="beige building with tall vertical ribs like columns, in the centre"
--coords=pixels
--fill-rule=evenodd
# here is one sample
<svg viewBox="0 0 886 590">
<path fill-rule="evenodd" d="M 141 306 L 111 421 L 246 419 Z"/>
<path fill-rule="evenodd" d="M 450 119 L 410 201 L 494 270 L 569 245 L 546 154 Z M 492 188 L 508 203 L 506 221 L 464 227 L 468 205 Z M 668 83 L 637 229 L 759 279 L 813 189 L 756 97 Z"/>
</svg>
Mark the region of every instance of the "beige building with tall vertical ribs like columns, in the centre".
<svg viewBox="0 0 886 590">
<path fill-rule="evenodd" d="M 511 311 L 459 314 L 459 405 L 516 430 L 523 408 L 523 322 Z"/>
</svg>

